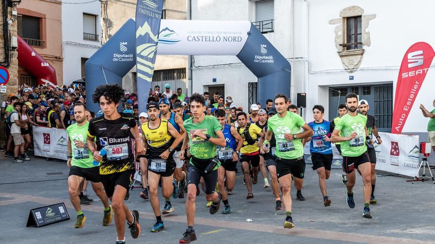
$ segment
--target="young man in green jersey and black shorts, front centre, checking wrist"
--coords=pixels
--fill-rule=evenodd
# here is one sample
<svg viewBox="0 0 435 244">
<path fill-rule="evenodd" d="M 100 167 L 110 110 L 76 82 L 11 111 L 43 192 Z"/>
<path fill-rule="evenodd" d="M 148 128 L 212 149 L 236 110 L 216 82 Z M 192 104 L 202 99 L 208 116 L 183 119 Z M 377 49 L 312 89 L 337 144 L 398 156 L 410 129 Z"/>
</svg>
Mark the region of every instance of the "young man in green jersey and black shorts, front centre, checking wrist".
<svg viewBox="0 0 435 244">
<path fill-rule="evenodd" d="M 220 162 L 216 157 L 216 146 L 225 147 L 226 142 L 222 133 L 222 126 L 214 116 L 205 116 L 204 98 L 195 93 L 190 97 L 190 110 L 193 117 L 184 121 L 186 130 L 185 139 L 181 148 L 185 148 L 190 143 L 190 154 L 192 155 L 189 163 L 189 174 L 187 175 L 187 230 L 179 243 L 190 243 L 196 240 L 193 223 L 195 219 L 195 200 L 196 187 L 201 176 L 204 178 L 204 191 L 207 201 L 213 201 L 210 206 L 210 213 L 215 214 L 219 210 L 222 194 L 215 192 L 217 184 L 217 169 Z M 184 150 L 179 154 L 181 160 L 184 159 Z"/>
</svg>

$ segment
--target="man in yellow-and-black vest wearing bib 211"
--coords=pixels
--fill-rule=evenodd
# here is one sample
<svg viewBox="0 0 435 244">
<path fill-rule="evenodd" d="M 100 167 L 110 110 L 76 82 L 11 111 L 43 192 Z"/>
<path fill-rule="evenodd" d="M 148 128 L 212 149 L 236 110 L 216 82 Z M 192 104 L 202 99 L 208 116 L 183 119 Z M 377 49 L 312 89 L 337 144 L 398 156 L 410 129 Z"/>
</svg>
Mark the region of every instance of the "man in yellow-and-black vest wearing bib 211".
<svg viewBox="0 0 435 244">
<path fill-rule="evenodd" d="M 165 228 L 160 213 L 159 198 L 157 197 L 159 180 L 162 177 L 163 197 L 170 198 L 171 194 L 173 194 L 173 197 L 177 198 L 177 184 L 173 177 L 175 170 L 173 155 L 174 149 L 182 138 L 168 120 L 159 118 L 159 105 L 157 103 L 148 103 L 146 108 L 150 121 L 144 123 L 141 129 L 146 149 L 145 156 L 148 159 L 150 202 L 157 219 L 151 232 L 159 232 Z"/>
</svg>

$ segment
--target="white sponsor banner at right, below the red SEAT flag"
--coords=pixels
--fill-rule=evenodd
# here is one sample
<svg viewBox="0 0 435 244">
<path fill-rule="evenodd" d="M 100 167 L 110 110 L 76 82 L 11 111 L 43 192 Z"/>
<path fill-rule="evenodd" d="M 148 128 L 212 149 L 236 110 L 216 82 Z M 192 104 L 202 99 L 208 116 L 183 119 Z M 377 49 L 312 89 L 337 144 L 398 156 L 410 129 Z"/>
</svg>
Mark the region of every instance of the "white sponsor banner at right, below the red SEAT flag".
<svg viewBox="0 0 435 244">
<path fill-rule="evenodd" d="M 380 132 L 382 144 L 375 144 L 376 169 L 415 176 L 420 165 L 419 137 Z"/>
</svg>

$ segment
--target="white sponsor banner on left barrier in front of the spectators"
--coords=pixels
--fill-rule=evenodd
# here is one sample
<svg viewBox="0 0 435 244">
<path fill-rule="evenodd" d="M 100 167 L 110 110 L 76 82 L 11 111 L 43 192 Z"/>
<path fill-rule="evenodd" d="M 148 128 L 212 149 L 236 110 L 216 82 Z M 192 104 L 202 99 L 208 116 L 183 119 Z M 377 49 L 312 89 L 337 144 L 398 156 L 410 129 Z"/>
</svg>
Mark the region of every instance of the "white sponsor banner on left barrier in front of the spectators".
<svg viewBox="0 0 435 244">
<path fill-rule="evenodd" d="M 33 143 L 35 156 L 67 160 L 66 130 L 33 126 Z"/>
</svg>

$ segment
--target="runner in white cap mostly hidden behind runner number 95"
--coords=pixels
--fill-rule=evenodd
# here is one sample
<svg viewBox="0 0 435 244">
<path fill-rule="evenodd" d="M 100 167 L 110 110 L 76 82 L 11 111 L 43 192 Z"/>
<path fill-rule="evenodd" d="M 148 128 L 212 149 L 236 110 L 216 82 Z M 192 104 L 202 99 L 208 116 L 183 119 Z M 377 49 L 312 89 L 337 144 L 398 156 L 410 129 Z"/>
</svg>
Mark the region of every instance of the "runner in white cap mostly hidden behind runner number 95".
<svg viewBox="0 0 435 244">
<path fill-rule="evenodd" d="M 362 115 L 367 116 L 367 132 L 369 134 L 370 139 L 373 140 L 373 135 L 375 135 L 375 138 L 377 140 L 378 144 L 382 143 L 382 139 L 379 136 L 378 128 L 376 128 L 375 124 L 375 117 L 373 115 L 368 114 L 368 111 L 370 109 L 369 104 L 366 100 L 360 100 L 358 103 L 358 110 Z M 367 153 L 369 154 L 370 159 L 370 165 L 372 167 L 371 170 L 371 183 L 372 183 L 372 194 L 370 196 L 370 203 L 371 204 L 377 204 L 378 200 L 375 198 L 375 185 L 376 185 L 376 151 L 375 147 L 372 144 L 367 144 Z"/>
</svg>

